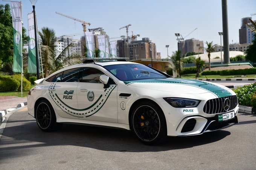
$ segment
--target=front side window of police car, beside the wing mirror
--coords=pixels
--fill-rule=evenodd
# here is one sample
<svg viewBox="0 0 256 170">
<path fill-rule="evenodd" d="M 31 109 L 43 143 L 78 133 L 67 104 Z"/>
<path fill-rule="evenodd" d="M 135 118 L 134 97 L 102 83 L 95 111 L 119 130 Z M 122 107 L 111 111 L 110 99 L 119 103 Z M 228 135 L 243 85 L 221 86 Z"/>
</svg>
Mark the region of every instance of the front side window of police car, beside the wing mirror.
<svg viewBox="0 0 256 170">
<path fill-rule="evenodd" d="M 81 78 L 79 79 L 79 81 L 84 83 L 101 83 L 99 81 L 99 77 L 101 75 L 104 75 L 104 72 L 96 68 L 84 67 L 81 68 L 80 71 Z"/>
</svg>

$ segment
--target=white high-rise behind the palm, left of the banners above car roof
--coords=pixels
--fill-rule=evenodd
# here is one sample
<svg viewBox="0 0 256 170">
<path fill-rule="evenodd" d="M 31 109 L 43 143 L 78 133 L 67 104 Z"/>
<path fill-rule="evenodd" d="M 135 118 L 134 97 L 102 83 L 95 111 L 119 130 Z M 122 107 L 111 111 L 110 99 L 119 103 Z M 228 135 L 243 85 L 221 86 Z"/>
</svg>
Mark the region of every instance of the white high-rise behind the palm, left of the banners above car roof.
<svg viewBox="0 0 256 170">
<path fill-rule="evenodd" d="M 73 39 L 71 36 L 60 36 L 56 40 L 58 54 L 61 53 L 68 45 L 72 43 L 72 46 L 69 47 L 64 55 L 69 56 L 71 54 L 81 55 L 81 41 L 78 39 Z"/>
</svg>

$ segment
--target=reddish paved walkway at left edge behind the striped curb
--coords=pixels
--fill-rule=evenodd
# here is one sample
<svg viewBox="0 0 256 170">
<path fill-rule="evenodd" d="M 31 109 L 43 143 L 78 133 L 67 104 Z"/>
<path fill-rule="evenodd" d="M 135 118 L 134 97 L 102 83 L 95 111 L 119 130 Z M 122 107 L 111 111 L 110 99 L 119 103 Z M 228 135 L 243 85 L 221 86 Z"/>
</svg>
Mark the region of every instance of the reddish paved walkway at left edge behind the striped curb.
<svg viewBox="0 0 256 170">
<path fill-rule="evenodd" d="M 21 102 L 27 102 L 27 98 L 17 96 L 0 96 L 0 110 L 17 107 L 17 105 Z"/>
</svg>

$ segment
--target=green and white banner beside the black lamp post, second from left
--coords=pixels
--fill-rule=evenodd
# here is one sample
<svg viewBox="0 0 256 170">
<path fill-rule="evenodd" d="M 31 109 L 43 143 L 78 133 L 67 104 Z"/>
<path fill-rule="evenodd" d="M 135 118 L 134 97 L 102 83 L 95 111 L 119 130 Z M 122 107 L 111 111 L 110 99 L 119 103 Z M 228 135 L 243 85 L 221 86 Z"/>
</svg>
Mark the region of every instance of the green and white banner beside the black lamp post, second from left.
<svg viewBox="0 0 256 170">
<path fill-rule="evenodd" d="M 34 13 L 31 12 L 27 14 L 27 19 L 28 19 L 28 35 L 29 35 L 29 56 L 28 56 L 27 72 L 37 73 L 37 58 L 36 58 L 36 52 L 35 52 Z"/>
</svg>

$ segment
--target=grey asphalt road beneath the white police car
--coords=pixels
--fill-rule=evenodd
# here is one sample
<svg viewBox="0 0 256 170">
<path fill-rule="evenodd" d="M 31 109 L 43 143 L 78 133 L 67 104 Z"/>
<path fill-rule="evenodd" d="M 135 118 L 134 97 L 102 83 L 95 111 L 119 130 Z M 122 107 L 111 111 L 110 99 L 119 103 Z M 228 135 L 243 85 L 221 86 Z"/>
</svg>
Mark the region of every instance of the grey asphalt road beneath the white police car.
<svg viewBox="0 0 256 170">
<path fill-rule="evenodd" d="M 26 108 L 9 117 L 0 169 L 256 169 L 256 116 L 200 136 L 146 146 L 131 131 L 63 125 L 43 132 Z"/>
</svg>

